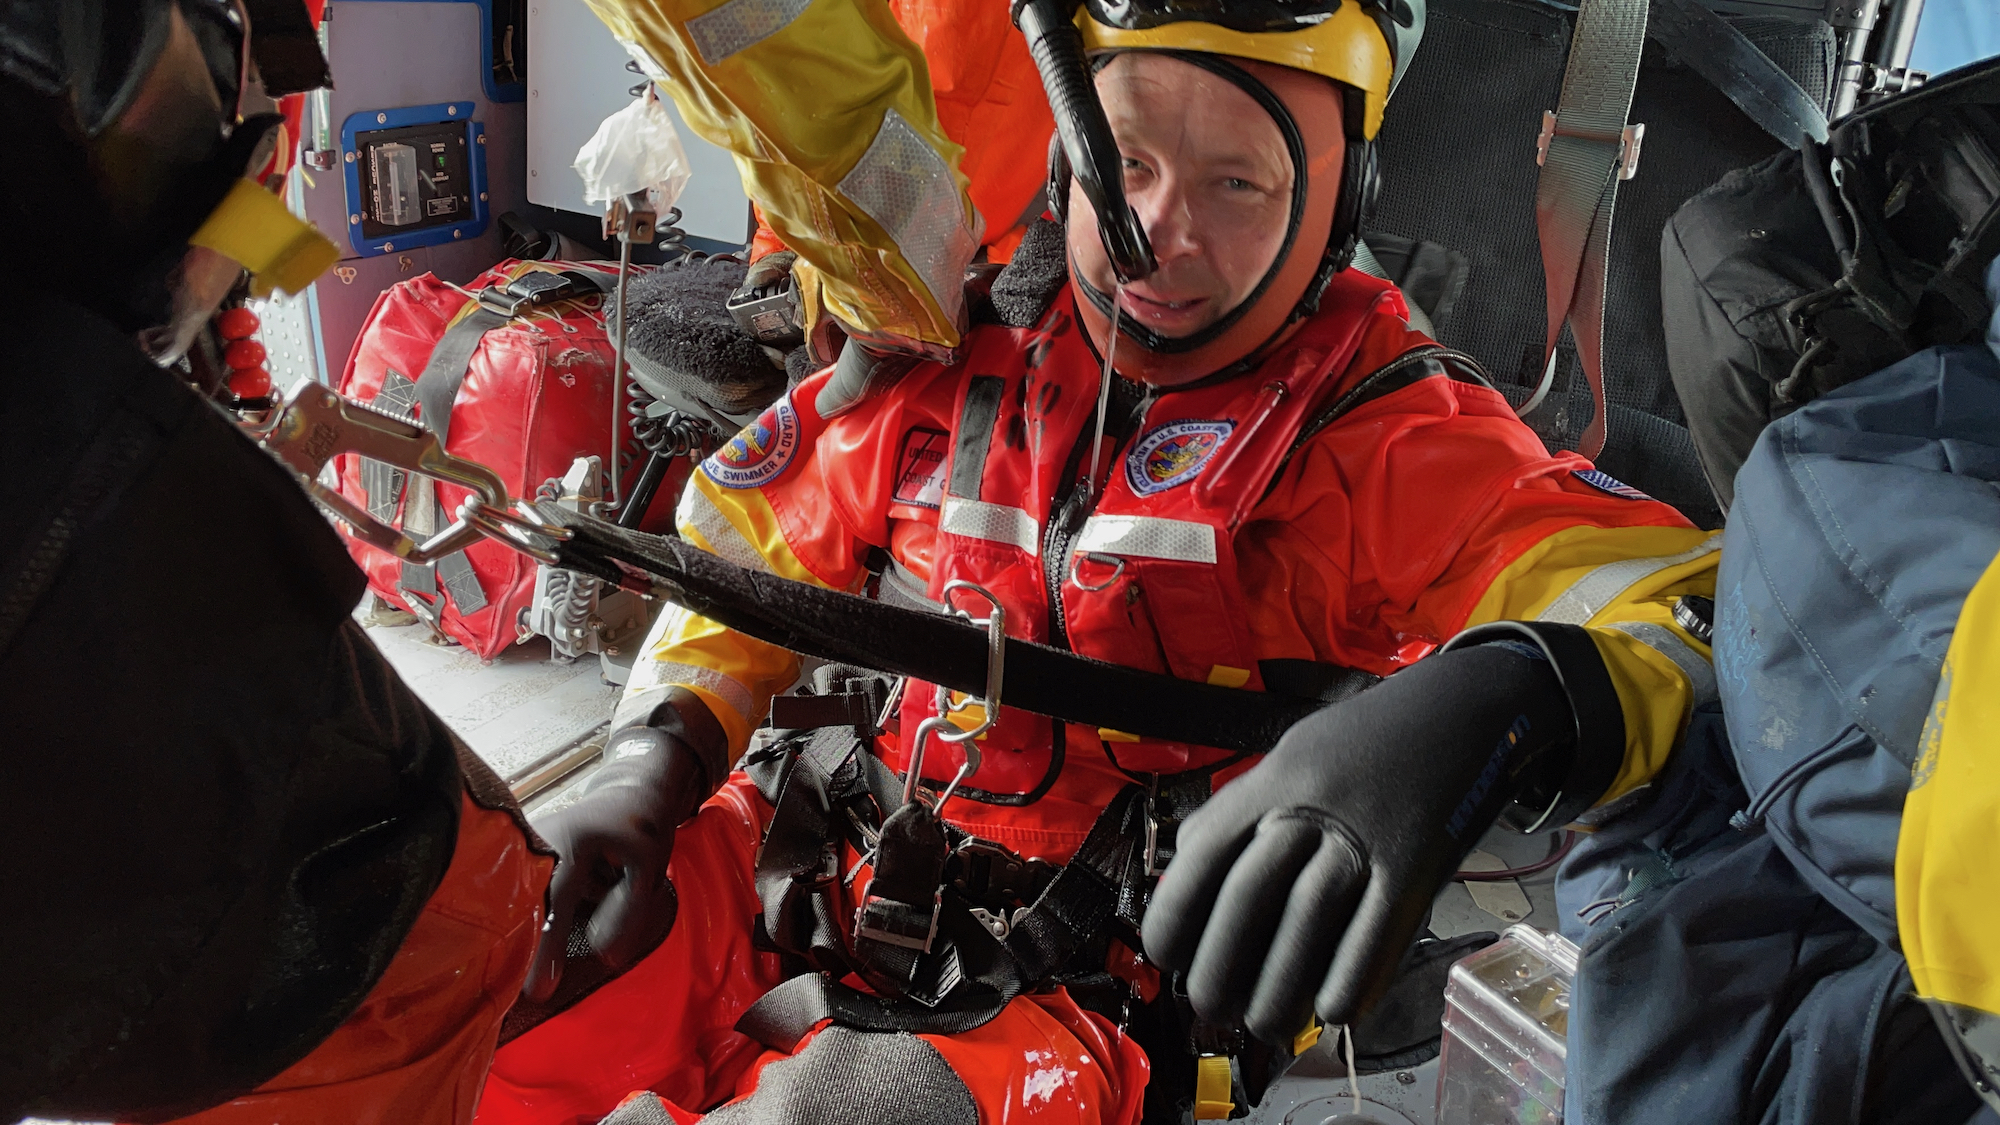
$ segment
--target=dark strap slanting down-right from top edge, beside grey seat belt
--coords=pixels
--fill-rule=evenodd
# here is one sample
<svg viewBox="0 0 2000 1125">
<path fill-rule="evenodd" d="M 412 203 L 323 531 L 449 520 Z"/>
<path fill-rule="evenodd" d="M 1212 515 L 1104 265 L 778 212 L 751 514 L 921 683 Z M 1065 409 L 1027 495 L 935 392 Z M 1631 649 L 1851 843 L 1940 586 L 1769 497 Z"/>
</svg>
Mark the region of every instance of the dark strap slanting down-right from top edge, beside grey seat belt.
<svg viewBox="0 0 2000 1125">
<path fill-rule="evenodd" d="M 1798 80 L 1700 0 L 1652 0 L 1646 36 L 1722 90 L 1786 148 L 1826 144 L 1826 110 Z"/>
</svg>

